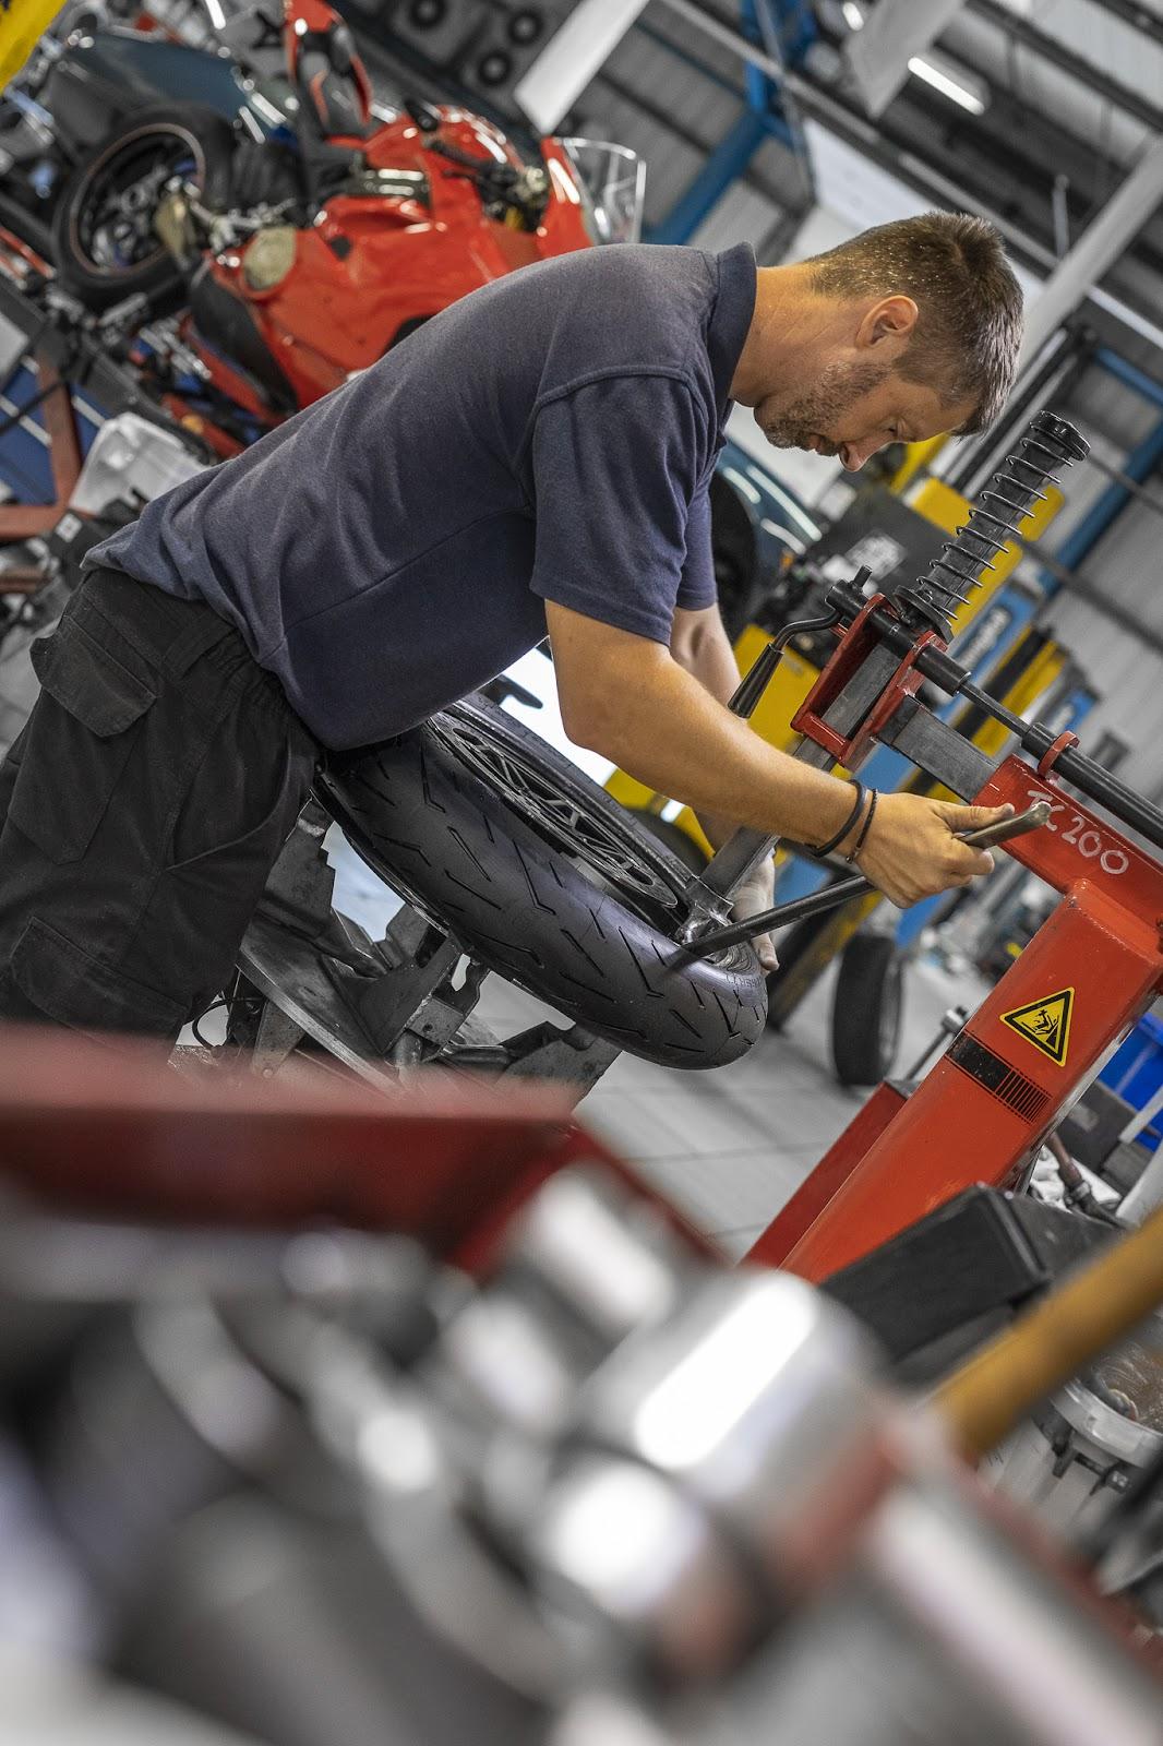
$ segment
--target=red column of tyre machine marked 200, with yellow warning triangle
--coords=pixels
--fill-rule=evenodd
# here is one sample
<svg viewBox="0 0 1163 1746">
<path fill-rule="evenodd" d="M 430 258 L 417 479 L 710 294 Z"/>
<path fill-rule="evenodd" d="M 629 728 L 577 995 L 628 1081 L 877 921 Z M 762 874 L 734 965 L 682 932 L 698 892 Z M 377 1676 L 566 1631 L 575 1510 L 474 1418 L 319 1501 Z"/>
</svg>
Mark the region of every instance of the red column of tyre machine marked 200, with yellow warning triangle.
<svg viewBox="0 0 1163 1746">
<path fill-rule="evenodd" d="M 1004 1187 L 1163 986 L 1163 868 L 1009 758 L 980 805 L 1051 801 L 1011 845 L 1063 901 L 948 1053 L 880 1123 L 836 1140 L 749 1261 L 824 1280 L 974 1182 Z"/>
</svg>

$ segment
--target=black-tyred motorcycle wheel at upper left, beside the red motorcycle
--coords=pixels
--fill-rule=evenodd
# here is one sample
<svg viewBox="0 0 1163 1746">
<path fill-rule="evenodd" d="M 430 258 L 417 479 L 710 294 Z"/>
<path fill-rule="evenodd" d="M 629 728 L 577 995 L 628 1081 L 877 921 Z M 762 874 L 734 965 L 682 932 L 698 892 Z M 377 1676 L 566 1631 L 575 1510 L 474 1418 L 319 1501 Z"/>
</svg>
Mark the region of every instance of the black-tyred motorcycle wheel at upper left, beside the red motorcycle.
<svg viewBox="0 0 1163 1746">
<path fill-rule="evenodd" d="M 154 230 L 171 176 L 196 182 L 208 204 L 225 206 L 234 129 L 196 103 L 127 115 L 84 157 L 52 215 L 61 281 L 89 309 L 145 293 L 154 304 L 182 288 L 182 269 Z"/>
</svg>

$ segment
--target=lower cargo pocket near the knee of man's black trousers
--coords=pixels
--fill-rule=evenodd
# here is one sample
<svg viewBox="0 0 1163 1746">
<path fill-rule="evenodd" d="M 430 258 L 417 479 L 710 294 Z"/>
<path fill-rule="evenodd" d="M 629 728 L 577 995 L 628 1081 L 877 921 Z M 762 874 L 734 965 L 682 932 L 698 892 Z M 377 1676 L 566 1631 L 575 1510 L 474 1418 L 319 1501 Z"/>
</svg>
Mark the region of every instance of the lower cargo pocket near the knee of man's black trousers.
<svg viewBox="0 0 1163 1746">
<path fill-rule="evenodd" d="M 73 1030 L 176 1037 L 187 1020 L 176 1000 L 120 976 L 40 918 L 17 939 L 9 974 L 45 1018 Z"/>
</svg>

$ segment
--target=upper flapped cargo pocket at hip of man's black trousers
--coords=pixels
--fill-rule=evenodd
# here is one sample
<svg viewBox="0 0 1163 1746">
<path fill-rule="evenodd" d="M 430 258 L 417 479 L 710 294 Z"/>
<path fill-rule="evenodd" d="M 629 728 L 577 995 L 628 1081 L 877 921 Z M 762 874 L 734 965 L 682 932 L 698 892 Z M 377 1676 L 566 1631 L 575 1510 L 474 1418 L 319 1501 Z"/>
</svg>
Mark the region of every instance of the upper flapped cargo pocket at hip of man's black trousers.
<svg viewBox="0 0 1163 1746">
<path fill-rule="evenodd" d="M 30 650 L 40 681 L 9 819 L 49 861 L 79 861 L 155 691 L 73 618 Z"/>
</svg>

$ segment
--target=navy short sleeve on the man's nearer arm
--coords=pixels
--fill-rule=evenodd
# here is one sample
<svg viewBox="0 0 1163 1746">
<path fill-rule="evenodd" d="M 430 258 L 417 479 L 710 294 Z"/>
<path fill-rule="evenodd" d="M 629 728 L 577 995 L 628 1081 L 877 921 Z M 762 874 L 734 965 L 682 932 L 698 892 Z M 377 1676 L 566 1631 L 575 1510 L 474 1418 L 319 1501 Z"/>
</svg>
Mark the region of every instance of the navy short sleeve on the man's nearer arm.
<svg viewBox="0 0 1163 1746">
<path fill-rule="evenodd" d="M 533 592 L 669 643 L 688 536 L 704 540 L 692 505 L 705 464 L 702 410 L 676 377 L 618 375 L 548 402 L 533 431 Z"/>
</svg>

